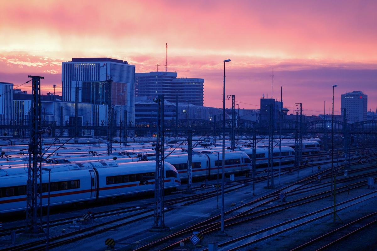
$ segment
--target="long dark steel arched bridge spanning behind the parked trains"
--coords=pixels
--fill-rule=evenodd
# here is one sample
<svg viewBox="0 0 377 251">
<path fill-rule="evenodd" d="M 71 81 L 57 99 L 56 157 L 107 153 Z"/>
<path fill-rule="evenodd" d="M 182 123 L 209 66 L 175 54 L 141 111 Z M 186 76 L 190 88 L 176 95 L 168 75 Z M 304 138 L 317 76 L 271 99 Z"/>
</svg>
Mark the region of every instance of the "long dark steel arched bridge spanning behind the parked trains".
<svg viewBox="0 0 377 251">
<path fill-rule="evenodd" d="M 115 136 L 118 135 L 119 131 L 122 132 L 126 129 L 129 132 L 135 134 L 153 134 L 156 132 L 156 119 L 137 119 L 135 120 L 134 125 L 120 126 L 114 125 L 113 131 Z M 231 132 L 231 119 L 225 120 L 225 131 L 226 133 Z M 178 120 L 178 123 L 169 120 L 165 120 L 165 131 L 167 134 L 174 134 L 178 132 L 184 134 L 188 129 L 193 130 L 196 134 L 208 134 L 213 135 L 214 125 L 216 127 L 216 133 L 219 134 L 222 132 L 222 120 L 217 120 L 215 123 L 211 120 L 199 120 L 199 119 L 181 119 Z M 237 120 L 236 132 L 239 135 L 242 134 L 251 134 L 254 128 L 258 134 L 267 134 L 267 127 L 250 120 Z M 305 134 L 324 134 L 331 132 L 331 120 L 314 120 L 311 122 L 306 122 L 303 124 L 303 132 Z M 45 137 L 68 137 L 67 135 L 72 135 L 75 131 L 75 125 L 55 125 L 54 123 L 42 123 L 42 130 L 44 131 Z M 276 128 L 279 128 L 277 125 Z M 347 129 L 349 134 L 371 134 L 377 135 L 377 120 L 367 120 L 361 121 L 353 124 L 344 125 L 343 121 L 335 120 L 334 121 L 334 133 L 342 134 L 344 130 Z M 8 137 L 24 137 L 29 135 L 29 125 L 24 123 L 24 125 L 0 125 L 0 130 L 3 135 Z M 107 126 L 93 126 L 93 125 L 84 125 L 78 126 L 78 130 L 83 132 L 80 137 L 92 135 L 90 131 L 95 132 L 96 136 L 106 135 Z M 294 133 L 296 131 L 296 121 L 295 120 L 284 120 L 282 122 L 282 132 L 283 134 Z M 62 132 L 65 132 L 63 134 Z M 69 132 L 67 134 L 67 132 Z M 85 133 L 87 135 L 85 135 Z M 66 135 L 66 136 L 64 136 Z"/>
</svg>

